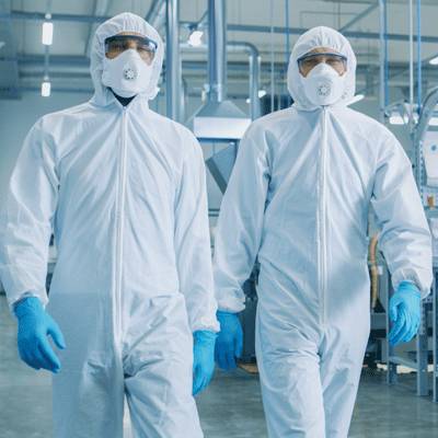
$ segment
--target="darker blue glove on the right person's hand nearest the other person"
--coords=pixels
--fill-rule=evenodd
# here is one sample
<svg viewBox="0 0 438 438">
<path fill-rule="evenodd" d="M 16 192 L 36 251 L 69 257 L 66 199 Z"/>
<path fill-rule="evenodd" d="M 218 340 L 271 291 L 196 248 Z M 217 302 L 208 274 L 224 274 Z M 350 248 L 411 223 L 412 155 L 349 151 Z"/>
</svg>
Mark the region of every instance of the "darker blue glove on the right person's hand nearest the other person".
<svg viewBox="0 0 438 438">
<path fill-rule="evenodd" d="M 216 342 L 215 358 L 224 370 L 235 368 L 235 358 L 242 356 L 243 331 L 237 313 L 219 310 L 217 318 L 220 324 Z"/>
</svg>

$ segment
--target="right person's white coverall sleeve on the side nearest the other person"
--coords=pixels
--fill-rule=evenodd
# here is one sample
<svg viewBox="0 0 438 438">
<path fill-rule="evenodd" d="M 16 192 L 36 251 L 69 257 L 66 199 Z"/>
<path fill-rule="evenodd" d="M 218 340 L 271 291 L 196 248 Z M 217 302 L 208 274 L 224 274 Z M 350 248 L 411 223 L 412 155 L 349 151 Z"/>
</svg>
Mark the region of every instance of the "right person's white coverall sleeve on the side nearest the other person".
<svg viewBox="0 0 438 438">
<path fill-rule="evenodd" d="M 214 275 L 218 307 L 244 309 L 242 286 L 249 279 L 261 245 L 269 184 L 266 136 L 252 125 L 241 140 L 220 207 L 215 233 Z"/>
</svg>

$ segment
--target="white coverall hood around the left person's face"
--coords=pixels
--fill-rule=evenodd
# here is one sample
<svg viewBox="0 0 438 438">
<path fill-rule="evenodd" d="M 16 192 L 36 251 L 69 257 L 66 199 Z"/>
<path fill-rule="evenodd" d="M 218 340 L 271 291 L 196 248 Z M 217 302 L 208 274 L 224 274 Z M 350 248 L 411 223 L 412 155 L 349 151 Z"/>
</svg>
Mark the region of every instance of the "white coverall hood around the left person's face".
<svg viewBox="0 0 438 438">
<path fill-rule="evenodd" d="M 130 12 L 123 12 L 102 23 L 94 34 L 90 54 L 90 72 L 94 84 L 94 95 L 91 101 L 97 105 L 107 105 L 114 99 L 113 93 L 102 84 L 103 59 L 105 57 L 104 43 L 105 38 L 120 32 L 139 33 L 153 39 L 158 44 L 157 53 L 151 66 L 152 74 L 149 81 L 149 87 L 147 91 L 140 94 L 147 100 L 152 100 L 158 93 L 157 85 L 160 79 L 164 56 L 163 41 L 159 33 L 141 16 Z"/>
</svg>

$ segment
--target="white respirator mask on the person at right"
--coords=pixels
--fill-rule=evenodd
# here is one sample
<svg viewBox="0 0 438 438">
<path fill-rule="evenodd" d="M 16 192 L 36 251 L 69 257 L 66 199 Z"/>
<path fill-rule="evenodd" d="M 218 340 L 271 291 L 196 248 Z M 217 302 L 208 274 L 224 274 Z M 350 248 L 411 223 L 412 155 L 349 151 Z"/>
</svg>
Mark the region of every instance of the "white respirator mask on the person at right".
<svg viewBox="0 0 438 438">
<path fill-rule="evenodd" d="M 318 106 L 333 105 L 345 92 L 345 73 L 339 73 L 325 62 L 315 66 L 304 78 L 301 76 L 306 95 Z"/>
</svg>

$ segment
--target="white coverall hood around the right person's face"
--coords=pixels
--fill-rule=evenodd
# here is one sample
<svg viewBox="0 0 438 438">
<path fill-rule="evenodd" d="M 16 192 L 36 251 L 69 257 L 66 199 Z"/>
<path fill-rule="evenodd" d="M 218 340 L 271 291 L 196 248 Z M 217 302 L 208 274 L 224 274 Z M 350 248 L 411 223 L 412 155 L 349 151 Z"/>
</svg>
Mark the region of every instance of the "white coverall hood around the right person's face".
<svg viewBox="0 0 438 438">
<path fill-rule="evenodd" d="M 318 26 L 303 33 L 293 46 L 289 58 L 287 85 L 293 99 L 293 105 L 298 110 L 312 111 L 314 105 L 306 95 L 301 82 L 301 73 L 298 69 L 297 59 L 316 47 L 328 47 L 347 58 L 347 71 L 345 78 L 345 91 L 341 101 L 335 105 L 347 105 L 354 97 L 356 91 L 356 56 L 348 39 L 339 32 L 325 26 Z"/>
</svg>

